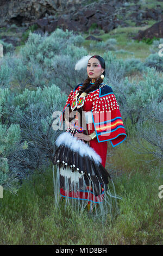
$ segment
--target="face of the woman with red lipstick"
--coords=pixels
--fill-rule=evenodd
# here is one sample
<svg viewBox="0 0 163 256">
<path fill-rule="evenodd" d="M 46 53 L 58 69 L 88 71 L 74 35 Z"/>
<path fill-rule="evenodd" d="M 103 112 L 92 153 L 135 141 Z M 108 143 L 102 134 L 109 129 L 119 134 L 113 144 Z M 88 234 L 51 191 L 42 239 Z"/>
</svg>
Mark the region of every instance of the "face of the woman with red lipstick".
<svg viewBox="0 0 163 256">
<path fill-rule="evenodd" d="M 105 69 L 102 68 L 100 62 L 96 58 L 91 58 L 87 63 L 87 75 L 89 78 L 96 78 L 98 79 L 101 74 L 104 72 Z"/>
</svg>

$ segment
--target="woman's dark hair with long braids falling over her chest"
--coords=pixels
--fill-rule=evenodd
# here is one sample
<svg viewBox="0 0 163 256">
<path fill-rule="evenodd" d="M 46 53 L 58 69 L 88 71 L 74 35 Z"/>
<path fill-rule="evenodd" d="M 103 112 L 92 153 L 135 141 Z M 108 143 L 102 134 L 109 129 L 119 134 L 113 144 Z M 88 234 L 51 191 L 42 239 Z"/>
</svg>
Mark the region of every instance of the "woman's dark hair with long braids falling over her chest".
<svg viewBox="0 0 163 256">
<path fill-rule="evenodd" d="M 90 60 L 91 58 L 97 58 L 97 59 L 99 60 L 100 64 L 101 64 L 102 68 L 105 69 L 105 60 L 104 60 L 101 56 L 94 55 L 94 56 L 90 57 L 89 60 Z M 89 60 L 88 60 L 88 61 L 89 61 Z M 104 70 L 104 72 L 103 72 L 103 75 L 105 76 L 105 70 Z M 89 77 L 84 81 L 82 87 L 80 87 L 80 89 L 79 89 L 78 99 L 79 99 L 79 96 L 80 96 L 83 92 L 85 92 L 85 93 L 90 93 L 90 92 L 92 92 L 92 90 L 96 90 L 96 89 L 99 87 L 99 84 L 101 84 L 101 83 L 103 82 L 103 79 L 102 79 L 101 77 L 99 77 L 99 78 L 96 80 L 96 82 L 95 82 L 94 84 L 92 84 L 92 86 L 91 86 L 90 88 L 88 88 L 88 89 L 85 90 L 85 88 L 86 88 L 87 86 L 89 86 L 90 81 L 91 81 L 91 78 L 89 78 Z M 75 108 L 74 111 L 78 111 L 78 112 L 80 113 L 80 117 L 82 117 L 83 107 L 80 107 L 80 108 L 78 108 L 78 109 Z M 70 109 L 70 113 L 71 113 L 71 112 L 72 112 L 72 110 Z M 71 121 L 72 119 L 73 119 L 73 118 L 69 118 L 69 121 Z M 82 126 L 82 121 L 84 121 L 84 125 L 86 125 L 86 123 L 85 123 L 85 118 L 84 118 L 83 120 L 81 119 L 80 121 L 81 121 L 81 126 Z M 86 126 L 85 126 L 85 127 L 86 127 Z M 87 134 L 87 132 L 84 131 L 84 134 Z"/>
</svg>

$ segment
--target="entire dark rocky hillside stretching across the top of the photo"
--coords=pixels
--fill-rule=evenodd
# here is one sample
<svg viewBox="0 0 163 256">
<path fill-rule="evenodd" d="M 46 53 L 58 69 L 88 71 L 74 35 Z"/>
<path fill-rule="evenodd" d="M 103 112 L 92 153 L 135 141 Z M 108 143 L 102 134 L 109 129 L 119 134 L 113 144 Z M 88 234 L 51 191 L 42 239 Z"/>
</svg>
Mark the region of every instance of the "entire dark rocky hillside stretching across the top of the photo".
<svg viewBox="0 0 163 256">
<path fill-rule="evenodd" d="M 163 37 L 162 0 L 156 1 L 154 8 L 147 3 L 148 0 L 0 0 L 0 39 L 18 45 L 17 39 L 1 36 L 1 28 L 10 29 L 13 24 L 20 28 L 16 31 L 18 37 L 20 31 L 24 33 L 32 25 L 37 25 L 35 33 L 41 34 L 51 33 L 58 27 L 75 33 L 93 28 L 93 34 L 98 34 L 99 29 L 108 33 L 118 26 L 145 26 L 151 20 L 158 23 L 154 33 L 149 29 L 134 39 Z"/>
</svg>

